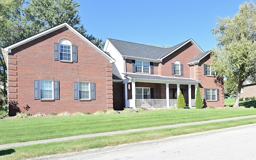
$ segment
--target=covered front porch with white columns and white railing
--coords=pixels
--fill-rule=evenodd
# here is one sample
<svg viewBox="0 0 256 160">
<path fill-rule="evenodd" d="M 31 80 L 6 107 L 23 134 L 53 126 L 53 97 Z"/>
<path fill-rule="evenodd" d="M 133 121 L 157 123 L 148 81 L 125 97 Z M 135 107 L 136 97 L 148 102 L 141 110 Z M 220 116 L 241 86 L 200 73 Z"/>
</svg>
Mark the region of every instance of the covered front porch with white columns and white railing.
<svg viewBox="0 0 256 160">
<path fill-rule="evenodd" d="M 131 77 L 130 77 L 131 76 Z M 124 80 L 126 108 L 176 107 L 180 91 L 187 107 L 195 106 L 197 80 L 129 74 Z"/>
</svg>

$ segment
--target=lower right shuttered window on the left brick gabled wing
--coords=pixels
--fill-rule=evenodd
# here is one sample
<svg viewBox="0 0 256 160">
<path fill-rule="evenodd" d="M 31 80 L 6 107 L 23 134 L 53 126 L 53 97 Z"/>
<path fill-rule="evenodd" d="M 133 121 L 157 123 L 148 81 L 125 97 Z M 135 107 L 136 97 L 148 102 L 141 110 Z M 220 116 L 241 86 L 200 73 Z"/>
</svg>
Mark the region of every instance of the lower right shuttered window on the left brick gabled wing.
<svg viewBox="0 0 256 160">
<path fill-rule="evenodd" d="M 95 100 L 95 83 L 74 82 L 74 100 Z"/>
</svg>

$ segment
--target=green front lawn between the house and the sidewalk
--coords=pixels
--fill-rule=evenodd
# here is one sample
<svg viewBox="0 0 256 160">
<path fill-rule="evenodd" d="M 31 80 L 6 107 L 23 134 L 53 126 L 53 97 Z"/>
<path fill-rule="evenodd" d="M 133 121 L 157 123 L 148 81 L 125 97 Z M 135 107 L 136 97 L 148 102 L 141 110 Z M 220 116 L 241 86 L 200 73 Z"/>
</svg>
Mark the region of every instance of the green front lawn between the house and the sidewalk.
<svg viewBox="0 0 256 160">
<path fill-rule="evenodd" d="M 0 120 L 0 144 L 256 114 L 256 109 L 182 109 L 126 114 Z"/>
</svg>

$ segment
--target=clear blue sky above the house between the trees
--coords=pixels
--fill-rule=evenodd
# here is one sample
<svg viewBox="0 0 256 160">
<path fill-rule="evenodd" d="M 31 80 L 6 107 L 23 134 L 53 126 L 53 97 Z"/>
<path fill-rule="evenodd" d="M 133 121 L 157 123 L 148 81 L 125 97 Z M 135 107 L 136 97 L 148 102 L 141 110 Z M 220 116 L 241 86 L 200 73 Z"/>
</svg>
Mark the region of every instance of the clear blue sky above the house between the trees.
<svg viewBox="0 0 256 160">
<path fill-rule="evenodd" d="M 76 0 L 79 15 L 96 38 L 175 46 L 192 38 L 204 51 L 217 42 L 217 16 L 232 18 L 245 0 Z M 247 2 L 250 2 L 247 1 Z"/>
</svg>

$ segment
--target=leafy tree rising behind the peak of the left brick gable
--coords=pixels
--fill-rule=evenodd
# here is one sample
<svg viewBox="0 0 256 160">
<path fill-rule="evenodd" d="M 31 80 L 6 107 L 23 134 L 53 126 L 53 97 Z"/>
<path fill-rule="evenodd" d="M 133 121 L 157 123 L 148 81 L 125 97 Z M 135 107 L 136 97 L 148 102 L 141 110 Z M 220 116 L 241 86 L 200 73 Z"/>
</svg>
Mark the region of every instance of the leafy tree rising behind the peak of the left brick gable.
<svg viewBox="0 0 256 160">
<path fill-rule="evenodd" d="M 30 0 L 26 4 L 28 6 L 24 8 L 24 12 L 37 32 L 67 22 L 96 46 L 103 48 L 102 39 L 86 34 L 87 30 L 81 24 L 81 17 L 78 15 L 77 7 L 80 6 L 78 2 L 74 0 Z"/>
</svg>

